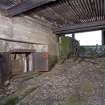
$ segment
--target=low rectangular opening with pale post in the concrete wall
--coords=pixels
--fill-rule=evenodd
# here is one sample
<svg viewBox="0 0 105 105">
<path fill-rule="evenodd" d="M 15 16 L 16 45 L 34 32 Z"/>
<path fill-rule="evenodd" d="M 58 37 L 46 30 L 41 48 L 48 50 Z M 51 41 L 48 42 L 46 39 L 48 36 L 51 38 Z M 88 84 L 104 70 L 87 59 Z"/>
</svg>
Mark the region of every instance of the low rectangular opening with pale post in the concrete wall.
<svg viewBox="0 0 105 105">
<path fill-rule="evenodd" d="M 33 71 L 33 50 L 17 49 L 10 51 L 12 74 L 20 74 Z"/>
</svg>

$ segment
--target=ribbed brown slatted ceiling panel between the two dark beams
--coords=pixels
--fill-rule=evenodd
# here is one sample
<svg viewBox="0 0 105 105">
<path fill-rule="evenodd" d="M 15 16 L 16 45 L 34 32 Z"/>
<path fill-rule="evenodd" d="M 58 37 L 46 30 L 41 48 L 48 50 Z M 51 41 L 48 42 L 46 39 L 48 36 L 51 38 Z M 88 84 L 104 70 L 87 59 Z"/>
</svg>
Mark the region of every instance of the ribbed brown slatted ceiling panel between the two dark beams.
<svg viewBox="0 0 105 105">
<path fill-rule="evenodd" d="M 52 22 L 59 33 L 75 25 L 104 21 L 105 0 L 57 0 L 34 12 Z"/>
</svg>

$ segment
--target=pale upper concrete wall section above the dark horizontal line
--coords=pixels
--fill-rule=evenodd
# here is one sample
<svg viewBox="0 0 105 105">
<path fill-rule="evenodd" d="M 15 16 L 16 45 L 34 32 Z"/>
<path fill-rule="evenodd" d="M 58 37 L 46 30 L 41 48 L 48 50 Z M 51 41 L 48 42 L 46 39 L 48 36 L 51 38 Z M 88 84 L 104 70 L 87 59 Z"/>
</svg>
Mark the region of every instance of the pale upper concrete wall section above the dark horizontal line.
<svg viewBox="0 0 105 105">
<path fill-rule="evenodd" d="M 47 23 L 46 23 L 47 24 Z M 0 37 L 20 41 L 48 44 L 50 25 L 22 15 L 8 18 L 0 15 Z"/>
</svg>

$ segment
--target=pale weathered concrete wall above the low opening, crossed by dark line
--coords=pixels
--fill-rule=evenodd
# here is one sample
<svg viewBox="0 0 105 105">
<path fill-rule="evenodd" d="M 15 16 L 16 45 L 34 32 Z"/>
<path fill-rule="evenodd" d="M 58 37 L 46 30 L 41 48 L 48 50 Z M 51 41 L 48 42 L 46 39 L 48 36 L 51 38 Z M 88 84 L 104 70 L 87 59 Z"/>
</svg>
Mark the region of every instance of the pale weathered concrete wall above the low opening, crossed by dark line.
<svg viewBox="0 0 105 105">
<path fill-rule="evenodd" d="M 0 38 L 27 42 L 20 43 L 0 40 L 0 51 L 3 52 L 18 48 L 48 52 L 49 45 L 51 46 L 49 47 L 49 53 L 56 54 L 56 38 L 52 33 L 51 25 L 39 17 L 31 18 L 30 16 L 21 15 L 8 18 L 0 15 Z M 40 43 L 41 45 L 35 43 Z"/>
</svg>

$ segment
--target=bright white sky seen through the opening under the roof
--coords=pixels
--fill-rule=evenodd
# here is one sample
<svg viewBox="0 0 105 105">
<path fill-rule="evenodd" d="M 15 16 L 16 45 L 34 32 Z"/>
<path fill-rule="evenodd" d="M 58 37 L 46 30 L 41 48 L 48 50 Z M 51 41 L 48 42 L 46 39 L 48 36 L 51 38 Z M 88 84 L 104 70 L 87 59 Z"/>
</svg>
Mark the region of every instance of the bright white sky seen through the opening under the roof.
<svg viewBox="0 0 105 105">
<path fill-rule="evenodd" d="M 66 36 L 71 37 L 71 34 Z M 75 38 L 80 42 L 80 45 L 102 45 L 102 31 L 76 33 Z"/>
</svg>

